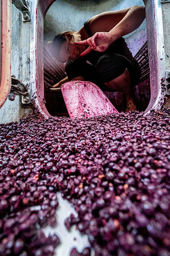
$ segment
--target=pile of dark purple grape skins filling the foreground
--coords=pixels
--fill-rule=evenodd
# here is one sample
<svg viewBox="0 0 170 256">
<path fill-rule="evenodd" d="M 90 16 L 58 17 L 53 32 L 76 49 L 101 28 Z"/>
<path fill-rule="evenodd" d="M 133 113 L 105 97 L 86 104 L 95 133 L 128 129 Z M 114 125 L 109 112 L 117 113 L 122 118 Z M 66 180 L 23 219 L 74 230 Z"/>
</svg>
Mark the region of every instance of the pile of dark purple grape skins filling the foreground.
<svg viewBox="0 0 170 256">
<path fill-rule="evenodd" d="M 0 255 L 54 255 L 57 191 L 95 256 L 170 256 L 170 108 L 0 125 Z"/>
</svg>

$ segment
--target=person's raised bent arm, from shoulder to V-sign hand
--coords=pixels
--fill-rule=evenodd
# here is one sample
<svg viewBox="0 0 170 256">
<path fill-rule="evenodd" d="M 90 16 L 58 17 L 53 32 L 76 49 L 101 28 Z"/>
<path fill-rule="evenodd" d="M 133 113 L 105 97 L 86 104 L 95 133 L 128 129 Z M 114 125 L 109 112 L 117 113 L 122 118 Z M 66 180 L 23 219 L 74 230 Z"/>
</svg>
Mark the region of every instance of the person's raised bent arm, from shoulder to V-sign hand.
<svg viewBox="0 0 170 256">
<path fill-rule="evenodd" d="M 144 6 L 132 6 L 124 10 L 105 12 L 92 17 L 88 21 L 88 25 L 94 34 L 93 37 L 76 42 L 77 45 L 89 45 L 81 56 L 92 50 L 104 52 L 112 42 L 137 29 L 144 19 Z"/>
</svg>

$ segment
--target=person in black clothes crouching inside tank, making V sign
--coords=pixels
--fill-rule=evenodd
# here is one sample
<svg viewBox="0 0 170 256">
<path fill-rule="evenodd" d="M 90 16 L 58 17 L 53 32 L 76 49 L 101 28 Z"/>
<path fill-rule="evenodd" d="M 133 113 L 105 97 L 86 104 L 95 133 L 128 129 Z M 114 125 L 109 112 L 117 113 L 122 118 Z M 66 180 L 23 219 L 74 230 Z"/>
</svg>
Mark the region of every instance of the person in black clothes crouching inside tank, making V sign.
<svg viewBox="0 0 170 256">
<path fill-rule="evenodd" d="M 123 36 L 136 30 L 144 19 L 145 7 L 132 6 L 100 13 L 78 31 L 56 35 L 51 53 L 59 62 L 67 62 L 67 77 L 53 88 L 71 80 L 90 81 L 101 90 L 123 93 L 126 111 L 136 111 L 132 87 L 138 83 L 141 70 Z"/>
</svg>

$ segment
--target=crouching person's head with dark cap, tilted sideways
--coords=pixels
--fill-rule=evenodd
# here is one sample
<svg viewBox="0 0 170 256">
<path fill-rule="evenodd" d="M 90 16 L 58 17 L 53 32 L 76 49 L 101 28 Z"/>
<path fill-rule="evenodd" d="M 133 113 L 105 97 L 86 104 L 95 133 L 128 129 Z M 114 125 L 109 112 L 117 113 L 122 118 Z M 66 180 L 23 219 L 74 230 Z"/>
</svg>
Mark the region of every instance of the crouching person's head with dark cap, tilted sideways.
<svg viewBox="0 0 170 256">
<path fill-rule="evenodd" d="M 50 50 L 52 55 L 59 62 L 75 60 L 79 56 L 79 50 L 75 44 L 74 32 L 66 31 L 56 35 L 51 42 Z"/>
</svg>

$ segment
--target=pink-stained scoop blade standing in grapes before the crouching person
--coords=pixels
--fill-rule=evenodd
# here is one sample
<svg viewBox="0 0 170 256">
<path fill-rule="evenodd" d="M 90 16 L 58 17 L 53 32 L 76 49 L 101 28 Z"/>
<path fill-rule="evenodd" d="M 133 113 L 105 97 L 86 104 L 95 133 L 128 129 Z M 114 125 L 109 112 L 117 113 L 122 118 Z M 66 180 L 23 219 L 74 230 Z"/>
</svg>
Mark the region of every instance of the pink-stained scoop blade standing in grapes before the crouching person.
<svg viewBox="0 0 170 256">
<path fill-rule="evenodd" d="M 118 113 L 94 83 L 70 81 L 61 86 L 61 91 L 71 119 Z"/>
</svg>

